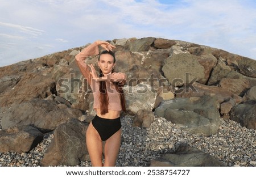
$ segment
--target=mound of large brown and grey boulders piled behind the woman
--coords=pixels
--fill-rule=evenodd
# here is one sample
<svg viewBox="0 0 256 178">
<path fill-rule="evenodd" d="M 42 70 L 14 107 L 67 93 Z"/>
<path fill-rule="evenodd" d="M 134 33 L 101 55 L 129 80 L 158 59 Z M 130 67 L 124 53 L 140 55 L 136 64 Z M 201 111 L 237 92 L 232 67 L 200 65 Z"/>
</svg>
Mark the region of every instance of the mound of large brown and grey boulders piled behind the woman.
<svg viewBox="0 0 256 178">
<path fill-rule="evenodd" d="M 256 129 L 255 60 L 179 40 L 147 37 L 109 42 L 117 46 L 115 71 L 127 75 L 126 114 L 134 115 L 134 126 L 150 126 L 155 115 L 199 135 L 215 134 L 220 117 Z M 27 152 L 44 133 L 54 132 L 42 166 L 74 166 L 89 159 L 82 145 L 86 123 L 76 120 L 95 114 L 92 92 L 75 62 L 84 47 L 0 67 L 1 152 Z M 96 66 L 97 58 L 88 57 L 86 63 Z M 77 155 L 76 150 L 84 153 Z M 177 164 L 171 162 L 164 165 Z M 218 162 L 185 165 L 221 166 Z"/>
</svg>

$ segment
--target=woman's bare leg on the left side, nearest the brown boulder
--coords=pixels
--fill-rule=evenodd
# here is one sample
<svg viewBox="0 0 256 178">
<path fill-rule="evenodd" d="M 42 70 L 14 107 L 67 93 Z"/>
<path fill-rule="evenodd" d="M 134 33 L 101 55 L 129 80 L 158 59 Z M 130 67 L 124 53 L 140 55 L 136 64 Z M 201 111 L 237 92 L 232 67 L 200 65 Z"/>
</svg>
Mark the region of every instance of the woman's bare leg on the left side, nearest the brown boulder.
<svg viewBox="0 0 256 178">
<path fill-rule="evenodd" d="M 90 122 L 86 130 L 86 146 L 90 155 L 90 161 L 92 166 L 103 166 L 102 165 L 102 141 L 97 130 L 93 127 Z"/>
</svg>

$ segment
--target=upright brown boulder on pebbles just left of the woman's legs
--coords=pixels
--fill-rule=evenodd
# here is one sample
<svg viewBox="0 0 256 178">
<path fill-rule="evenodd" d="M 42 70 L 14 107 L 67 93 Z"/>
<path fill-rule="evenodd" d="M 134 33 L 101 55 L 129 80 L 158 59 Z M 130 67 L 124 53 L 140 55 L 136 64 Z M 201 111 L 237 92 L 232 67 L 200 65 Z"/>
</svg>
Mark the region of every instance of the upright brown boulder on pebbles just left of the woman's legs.
<svg viewBox="0 0 256 178">
<path fill-rule="evenodd" d="M 72 118 L 59 125 L 53 134 L 53 140 L 48 146 L 41 166 L 77 166 L 81 161 L 89 160 L 86 148 L 85 133 L 88 124 Z"/>
</svg>

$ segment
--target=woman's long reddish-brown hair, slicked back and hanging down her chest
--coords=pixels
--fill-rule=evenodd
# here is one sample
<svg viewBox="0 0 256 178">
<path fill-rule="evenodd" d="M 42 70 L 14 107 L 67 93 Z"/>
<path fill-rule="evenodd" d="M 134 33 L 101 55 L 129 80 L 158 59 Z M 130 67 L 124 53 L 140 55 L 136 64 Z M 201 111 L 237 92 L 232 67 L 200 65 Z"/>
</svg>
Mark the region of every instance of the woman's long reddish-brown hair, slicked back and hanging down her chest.
<svg viewBox="0 0 256 178">
<path fill-rule="evenodd" d="M 100 53 L 100 56 L 98 56 L 98 61 L 100 61 L 101 54 L 110 54 L 114 58 L 114 63 L 115 63 L 115 55 L 112 51 L 107 51 L 104 50 L 103 52 Z M 103 77 L 103 73 L 100 69 L 100 75 L 99 77 Z M 126 105 L 125 105 L 125 94 L 123 92 L 123 84 L 119 84 L 119 82 L 115 82 L 115 90 L 119 92 L 120 96 L 120 101 L 122 105 L 122 110 L 126 111 Z M 101 115 L 105 115 L 106 113 L 109 112 L 108 106 L 109 106 L 109 96 L 108 92 L 106 89 L 106 82 L 100 82 L 100 107 L 101 107 Z"/>
</svg>

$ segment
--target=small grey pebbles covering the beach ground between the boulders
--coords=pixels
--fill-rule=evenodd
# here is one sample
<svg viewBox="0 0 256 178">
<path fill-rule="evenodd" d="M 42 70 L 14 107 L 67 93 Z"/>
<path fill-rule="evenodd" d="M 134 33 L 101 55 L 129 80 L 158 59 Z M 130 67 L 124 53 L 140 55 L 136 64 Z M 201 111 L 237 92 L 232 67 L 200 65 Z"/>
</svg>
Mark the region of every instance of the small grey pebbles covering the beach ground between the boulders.
<svg viewBox="0 0 256 178">
<path fill-rule="evenodd" d="M 133 127 L 133 116 L 124 116 L 121 122 L 122 143 L 116 164 L 118 167 L 149 166 L 150 160 L 159 158 L 167 151 L 174 151 L 182 143 L 212 155 L 229 167 L 256 166 L 256 131 L 232 120 L 221 118 L 220 129 L 210 137 L 184 132 L 162 117 L 155 118 L 146 129 Z M 0 166 L 40 166 L 52 138 L 53 133 L 44 134 L 43 141 L 26 153 L 0 152 Z M 92 165 L 86 161 L 77 166 Z"/>
</svg>

